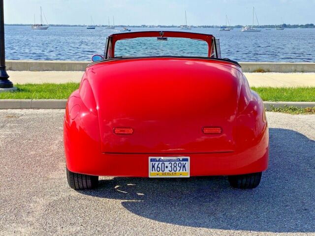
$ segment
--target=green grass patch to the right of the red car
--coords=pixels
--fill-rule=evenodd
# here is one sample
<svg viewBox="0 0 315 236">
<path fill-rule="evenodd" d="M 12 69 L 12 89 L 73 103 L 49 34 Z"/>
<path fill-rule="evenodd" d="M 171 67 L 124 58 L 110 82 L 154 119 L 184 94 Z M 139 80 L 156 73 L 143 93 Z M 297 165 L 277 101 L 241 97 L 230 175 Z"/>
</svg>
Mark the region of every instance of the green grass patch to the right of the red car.
<svg viewBox="0 0 315 236">
<path fill-rule="evenodd" d="M 263 101 L 269 102 L 314 102 L 315 87 L 273 88 L 253 87 Z"/>
</svg>

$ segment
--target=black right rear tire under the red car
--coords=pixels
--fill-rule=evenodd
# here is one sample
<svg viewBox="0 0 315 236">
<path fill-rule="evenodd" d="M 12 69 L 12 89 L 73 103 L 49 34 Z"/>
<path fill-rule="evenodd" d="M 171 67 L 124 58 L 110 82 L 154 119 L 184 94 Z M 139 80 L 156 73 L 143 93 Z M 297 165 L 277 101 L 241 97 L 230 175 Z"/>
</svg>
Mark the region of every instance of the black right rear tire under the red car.
<svg viewBox="0 0 315 236">
<path fill-rule="evenodd" d="M 228 176 L 228 181 L 234 188 L 255 188 L 260 183 L 261 174 L 262 172 L 238 176 Z"/>
</svg>

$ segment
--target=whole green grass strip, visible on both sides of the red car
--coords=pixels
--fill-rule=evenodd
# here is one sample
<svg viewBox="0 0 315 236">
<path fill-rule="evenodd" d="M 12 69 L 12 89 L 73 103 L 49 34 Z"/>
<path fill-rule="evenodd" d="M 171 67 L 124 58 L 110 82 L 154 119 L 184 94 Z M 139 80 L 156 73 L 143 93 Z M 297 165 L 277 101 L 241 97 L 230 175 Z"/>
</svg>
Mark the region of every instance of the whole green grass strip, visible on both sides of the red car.
<svg viewBox="0 0 315 236">
<path fill-rule="evenodd" d="M 1 92 L 0 99 L 67 99 L 72 91 L 79 88 L 79 83 L 66 84 L 24 84 L 15 85 L 15 92 Z M 315 101 L 315 87 L 300 88 L 252 88 L 263 101 Z"/>
</svg>

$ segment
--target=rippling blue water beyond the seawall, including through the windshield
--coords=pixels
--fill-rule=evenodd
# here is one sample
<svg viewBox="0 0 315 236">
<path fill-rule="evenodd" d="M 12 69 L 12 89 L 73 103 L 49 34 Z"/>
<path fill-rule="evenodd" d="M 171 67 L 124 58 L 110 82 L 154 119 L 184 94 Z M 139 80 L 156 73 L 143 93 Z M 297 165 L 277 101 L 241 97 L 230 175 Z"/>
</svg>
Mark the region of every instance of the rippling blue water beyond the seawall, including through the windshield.
<svg viewBox="0 0 315 236">
<path fill-rule="evenodd" d="M 132 31 L 178 30 L 177 28 L 130 29 Z M 106 37 L 119 30 L 120 28 L 86 29 L 84 27 L 50 27 L 47 30 L 32 30 L 27 26 L 6 26 L 6 59 L 90 60 L 94 54 L 103 54 Z M 261 32 L 239 30 L 192 29 L 189 31 L 213 34 L 220 38 L 222 58 L 237 61 L 315 61 L 315 29 L 262 29 Z M 118 45 L 120 47 L 117 47 L 119 49 L 117 55 L 139 56 L 146 54 L 145 51 L 150 52 L 152 47 L 159 49 L 159 54 L 164 52 L 167 55 L 204 55 L 206 49 L 201 45 L 202 42 L 191 41 L 157 42 L 156 39 L 151 39 L 151 41 L 142 40 L 137 43 L 129 42 L 129 45 Z"/>
</svg>

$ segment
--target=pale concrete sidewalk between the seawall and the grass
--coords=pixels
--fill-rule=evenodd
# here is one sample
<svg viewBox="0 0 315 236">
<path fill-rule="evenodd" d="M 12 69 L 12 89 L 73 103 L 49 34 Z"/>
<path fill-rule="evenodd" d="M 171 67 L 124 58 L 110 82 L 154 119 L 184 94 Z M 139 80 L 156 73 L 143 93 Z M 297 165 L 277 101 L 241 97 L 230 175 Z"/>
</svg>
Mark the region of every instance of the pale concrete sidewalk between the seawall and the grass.
<svg viewBox="0 0 315 236">
<path fill-rule="evenodd" d="M 14 84 L 80 82 L 82 71 L 8 71 Z M 315 87 L 315 73 L 245 73 L 250 86 Z"/>
</svg>

